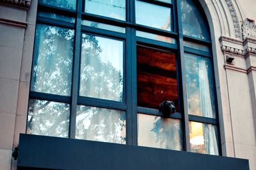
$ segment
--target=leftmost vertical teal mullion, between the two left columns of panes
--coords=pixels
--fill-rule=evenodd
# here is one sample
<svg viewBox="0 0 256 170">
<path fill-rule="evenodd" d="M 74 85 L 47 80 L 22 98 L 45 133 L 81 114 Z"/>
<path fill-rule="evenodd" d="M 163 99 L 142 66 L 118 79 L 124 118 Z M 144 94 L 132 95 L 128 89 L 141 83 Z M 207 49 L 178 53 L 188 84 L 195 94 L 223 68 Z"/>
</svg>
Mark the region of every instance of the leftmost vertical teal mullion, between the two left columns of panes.
<svg viewBox="0 0 256 170">
<path fill-rule="evenodd" d="M 74 65 L 72 76 L 72 100 L 70 109 L 70 128 L 69 137 L 76 137 L 76 111 L 77 111 L 77 98 L 78 98 L 78 84 L 79 84 L 79 60 L 81 51 L 81 18 L 83 0 L 77 0 L 77 18 L 76 18 L 76 37 L 74 43 Z"/>
</svg>

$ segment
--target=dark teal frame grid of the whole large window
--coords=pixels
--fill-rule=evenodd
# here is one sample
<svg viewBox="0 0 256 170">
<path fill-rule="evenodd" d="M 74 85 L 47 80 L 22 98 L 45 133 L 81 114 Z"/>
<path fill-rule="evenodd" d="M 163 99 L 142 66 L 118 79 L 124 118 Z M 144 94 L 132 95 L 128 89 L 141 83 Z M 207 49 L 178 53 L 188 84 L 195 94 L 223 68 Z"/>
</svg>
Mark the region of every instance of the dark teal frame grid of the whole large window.
<svg viewBox="0 0 256 170">
<path fill-rule="evenodd" d="M 202 43 L 209 47 L 211 50 L 211 42 L 206 40 L 199 40 L 193 37 L 189 37 L 182 34 L 182 21 L 181 21 L 181 10 L 180 10 L 180 0 L 172 1 L 172 3 L 164 3 L 161 1 L 150 1 L 150 0 L 140 0 L 147 3 L 154 3 L 161 6 L 168 6 L 172 11 L 172 30 L 164 31 L 162 29 L 156 29 L 154 27 L 142 26 L 136 24 L 135 22 L 135 1 L 126 1 L 126 21 L 111 19 L 109 17 L 102 17 L 99 15 L 93 15 L 84 12 L 84 1 L 77 0 L 76 10 L 67 10 L 65 8 L 58 8 L 56 6 L 50 6 L 47 4 L 38 3 L 38 11 L 59 13 L 61 15 L 67 15 L 68 17 L 74 17 L 76 19 L 75 23 L 65 22 L 56 19 L 50 19 L 47 17 L 37 17 L 36 22 L 42 24 L 49 24 L 52 26 L 65 27 L 75 30 L 74 36 L 74 58 L 72 65 L 72 89 L 70 97 L 64 97 L 61 95 L 52 95 L 46 93 L 38 93 L 35 91 L 30 91 L 29 99 L 38 100 L 49 100 L 54 102 L 64 102 L 70 104 L 70 126 L 68 137 L 75 138 L 76 136 L 76 109 L 77 105 L 89 105 L 94 107 L 102 107 L 107 109 L 118 109 L 120 111 L 126 111 L 126 144 L 138 145 L 137 142 L 137 112 L 143 114 L 150 114 L 156 116 L 163 116 L 157 109 L 148 109 L 143 107 L 137 107 L 137 91 L 136 91 L 136 45 L 142 44 L 150 47 L 156 47 L 158 49 L 169 50 L 177 54 L 177 81 L 178 81 L 178 91 L 179 91 L 179 112 L 170 115 L 170 118 L 179 119 L 182 121 L 182 134 L 183 134 L 183 148 L 184 151 L 190 151 L 189 144 L 189 121 L 196 121 L 200 123 L 207 123 L 211 125 L 216 125 L 218 127 L 218 151 L 221 155 L 220 147 L 220 123 L 218 119 L 218 104 L 216 97 L 216 86 L 214 76 L 214 100 L 215 100 L 215 110 L 216 118 L 205 118 L 201 116 L 194 116 L 188 114 L 188 104 L 186 102 L 187 92 L 186 92 L 186 79 L 184 77 L 184 52 L 191 54 L 196 54 L 203 56 L 205 58 L 211 58 L 212 64 L 212 75 L 214 75 L 213 70 L 213 59 L 212 52 L 204 52 L 202 50 L 191 49 L 189 47 L 184 47 L 183 41 L 189 40 L 191 42 Z M 202 10 L 202 15 L 207 19 L 203 13 L 203 9 L 200 3 L 195 1 Z M 116 33 L 114 31 L 108 31 L 105 29 L 99 29 L 95 27 L 88 27 L 81 25 L 83 19 L 92 20 L 95 22 L 101 22 L 103 24 L 111 24 L 113 26 L 125 27 L 125 33 Z M 208 26 L 208 24 L 206 24 Z M 205 28 L 209 30 L 209 27 Z M 148 38 L 141 38 L 136 36 L 136 30 L 145 31 L 148 33 L 154 33 L 156 35 L 168 36 L 174 38 L 177 43 L 166 43 L 159 42 L 157 40 L 151 40 Z M 98 98 L 90 97 L 79 97 L 79 72 L 80 72 L 80 58 L 81 58 L 81 37 L 82 33 L 89 33 L 90 35 L 99 35 L 109 38 L 114 38 L 124 41 L 124 101 L 115 102 L 109 100 L 102 100 Z M 36 45 L 34 48 L 34 55 L 36 52 Z"/>
</svg>

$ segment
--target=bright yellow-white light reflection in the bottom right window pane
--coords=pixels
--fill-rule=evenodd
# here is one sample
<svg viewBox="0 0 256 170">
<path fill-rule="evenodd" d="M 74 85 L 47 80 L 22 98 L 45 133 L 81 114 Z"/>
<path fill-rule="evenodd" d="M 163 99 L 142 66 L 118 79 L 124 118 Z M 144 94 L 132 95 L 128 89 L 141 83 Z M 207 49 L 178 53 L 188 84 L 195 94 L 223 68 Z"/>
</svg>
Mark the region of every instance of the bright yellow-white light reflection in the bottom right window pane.
<svg viewBox="0 0 256 170">
<path fill-rule="evenodd" d="M 204 144 L 203 124 L 194 121 L 190 122 L 190 143 L 195 145 Z"/>
</svg>

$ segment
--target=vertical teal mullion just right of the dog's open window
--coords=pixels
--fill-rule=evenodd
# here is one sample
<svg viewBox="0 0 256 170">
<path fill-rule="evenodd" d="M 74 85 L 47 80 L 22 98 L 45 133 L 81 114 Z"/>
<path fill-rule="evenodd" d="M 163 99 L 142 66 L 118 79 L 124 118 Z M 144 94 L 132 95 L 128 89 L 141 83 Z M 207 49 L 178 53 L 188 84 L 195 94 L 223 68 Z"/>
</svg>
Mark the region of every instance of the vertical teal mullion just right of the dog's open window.
<svg viewBox="0 0 256 170">
<path fill-rule="evenodd" d="M 188 98 L 186 91 L 186 77 L 185 72 L 185 61 L 184 61 L 184 43 L 183 43 L 183 34 L 182 34 L 182 13 L 180 8 L 180 0 L 176 1 L 176 12 L 177 12 L 177 32 L 179 35 L 178 38 L 178 66 L 179 66 L 179 93 L 180 93 L 180 108 L 181 113 L 183 114 L 182 127 L 183 127 L 183 137 L 184 137 L 184 150 L 190 151 L 189 143 L 189 118 L 188 118 Z"/>
</svg>

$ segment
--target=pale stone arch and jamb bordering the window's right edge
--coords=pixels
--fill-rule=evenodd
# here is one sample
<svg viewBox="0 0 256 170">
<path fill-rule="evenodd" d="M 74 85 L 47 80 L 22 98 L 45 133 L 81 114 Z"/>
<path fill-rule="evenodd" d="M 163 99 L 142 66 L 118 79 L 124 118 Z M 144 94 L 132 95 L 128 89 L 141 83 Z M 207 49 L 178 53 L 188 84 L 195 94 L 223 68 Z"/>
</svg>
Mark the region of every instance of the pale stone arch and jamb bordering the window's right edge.
<svg viewBox="0 0 256 170">
<path fill-rule="evenodd" d="M 221 149 L 223 155 L 235 157 L 233 134 L 227 132 L 232 129 L 232 122 L 227 121 L 226 115 L 230 114 L 230 98 L 228 96 L 227 73 L 225 55 L 221 50 L 220 38 L 228 37 L 228 41 L 242 43 L 241 24 L 242 12 L 236 0 L 200 0 L 207 17 L 212 42 L 212 57 L 214 64 L 214 76 L 218 100 L 218 113 L 220 120 Z M 228 141 L 227 136 L 231 141 Z"/>
</svg>

